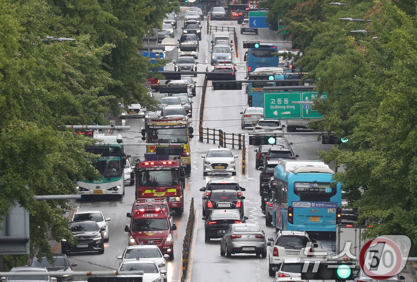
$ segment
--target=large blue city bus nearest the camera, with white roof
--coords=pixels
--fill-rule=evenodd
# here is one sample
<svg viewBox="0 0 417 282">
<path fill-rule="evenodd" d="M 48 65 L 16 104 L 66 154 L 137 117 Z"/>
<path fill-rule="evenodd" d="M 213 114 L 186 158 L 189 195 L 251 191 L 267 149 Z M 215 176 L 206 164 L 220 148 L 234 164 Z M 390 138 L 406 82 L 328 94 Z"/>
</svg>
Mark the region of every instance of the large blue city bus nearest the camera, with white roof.
<svg viewBox="0 0 417 282">
<path fill-rule="evenodd" d="M 282 160 L 274 170 L 266 224 L 278 230 L 336 235 L 342 188 L 322 161 Z"/>
</svg>

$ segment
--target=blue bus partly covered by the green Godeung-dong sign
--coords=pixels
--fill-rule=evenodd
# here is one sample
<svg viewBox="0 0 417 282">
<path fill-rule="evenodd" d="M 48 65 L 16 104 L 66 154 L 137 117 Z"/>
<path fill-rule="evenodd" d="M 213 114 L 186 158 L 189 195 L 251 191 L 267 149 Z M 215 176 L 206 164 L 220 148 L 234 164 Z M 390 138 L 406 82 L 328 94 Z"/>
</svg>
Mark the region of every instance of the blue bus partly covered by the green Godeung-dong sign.
<svg viewBox="0 0 417 282">
<path fill-rule="evenodd" d="M 277 82 L 269 80 L 292 79 L 291 70 L 286 67 L 259 67 L 248 75 L 248 105 L 249 107 L 264 107 L 264 94 L 276 90 L 264 90 L 266 86 L 278 86 Z M 298 79 L 298 76 L 296 77 Z M 256 82 L 255 82 L 256 81 Z M 296 83 L 293 83 L 294 85 Z M 290 84 L 289 84 L 290 85 Z"/>
</svg>

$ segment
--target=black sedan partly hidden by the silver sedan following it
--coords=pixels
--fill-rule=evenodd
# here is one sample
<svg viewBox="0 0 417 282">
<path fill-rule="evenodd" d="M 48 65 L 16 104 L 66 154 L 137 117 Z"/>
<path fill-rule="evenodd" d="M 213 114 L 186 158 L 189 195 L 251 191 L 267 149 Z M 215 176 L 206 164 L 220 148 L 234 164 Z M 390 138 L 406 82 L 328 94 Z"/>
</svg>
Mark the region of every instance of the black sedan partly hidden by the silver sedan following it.
<svg viewBox="0 0 417 282">
<path fill-rule="evenodd" d="M 208 217 L 203 217 L 204 241 L 210 242 L 210 238 L 223 237 L 226 228 L 234 223 L 244 223 L 248 217 L 244 217 L 238 210 L 214 210 Z"/>
</svg>

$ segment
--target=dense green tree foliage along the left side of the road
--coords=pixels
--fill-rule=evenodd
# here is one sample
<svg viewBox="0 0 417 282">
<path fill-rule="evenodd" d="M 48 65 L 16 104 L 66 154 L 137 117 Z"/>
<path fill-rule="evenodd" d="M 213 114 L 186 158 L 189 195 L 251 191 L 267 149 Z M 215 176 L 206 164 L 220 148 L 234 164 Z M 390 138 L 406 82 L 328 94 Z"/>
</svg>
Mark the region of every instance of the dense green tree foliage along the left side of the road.
<svg viewBox="0 0 417 282">
<path fill-rule="evenodd" d="M 100 177 L 84 151 L 93 140 L 64 125 L 106 124 L 119 102 L 155 104 L 141 86 L 152 65 L 138 47 L 174 8 L 168 0 L 0 1 L 0 220 L 17 200 L 40 253 L 50 257 L 49 233 L 73 240 L 63 217 L 70 207 L 33 196 L 74 194 L 76 181 Z M 15 260 L 24 258 L 5 256 L 0 267 Z"/>
</svg>

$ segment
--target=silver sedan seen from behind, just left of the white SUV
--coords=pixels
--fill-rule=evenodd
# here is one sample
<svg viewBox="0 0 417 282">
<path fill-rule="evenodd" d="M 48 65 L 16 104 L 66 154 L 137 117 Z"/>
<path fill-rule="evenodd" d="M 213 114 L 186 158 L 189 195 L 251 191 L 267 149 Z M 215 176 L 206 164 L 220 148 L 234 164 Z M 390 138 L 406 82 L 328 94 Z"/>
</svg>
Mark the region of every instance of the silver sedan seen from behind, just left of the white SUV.
<svg viewBox="0 0 417 282">
<path fill-rule="evenodd" d="M 246 253 L 266 258 L 266 240 L 264 232 L 254 223 L 234 223 L 227 227 L 220 240 L 220 255 Z"/>
</svg>

